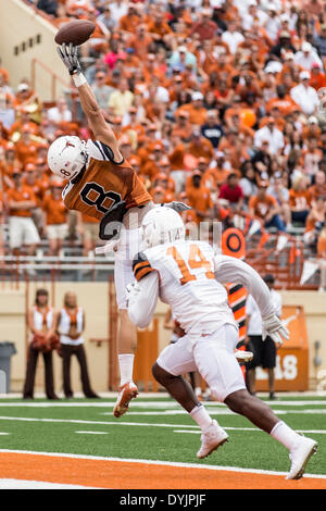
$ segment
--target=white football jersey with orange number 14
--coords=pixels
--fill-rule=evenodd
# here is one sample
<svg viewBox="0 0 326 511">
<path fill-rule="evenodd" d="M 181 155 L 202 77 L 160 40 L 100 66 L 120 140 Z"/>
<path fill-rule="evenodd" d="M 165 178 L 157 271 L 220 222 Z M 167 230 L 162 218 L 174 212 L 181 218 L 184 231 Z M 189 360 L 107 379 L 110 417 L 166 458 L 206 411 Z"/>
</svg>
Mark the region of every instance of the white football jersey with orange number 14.
<svg viewBox="0 0 326 511">
<path fill-rule="evenodd" d="M 225 323 L 237 327 L 227 291 L 215 279 L 215 252 L 205 241 L 176 241 L 146 249 L 134 260 L 137 281 L 158 272 L 160 298 L 185 332 L 211 334 Z"/>
</svg>

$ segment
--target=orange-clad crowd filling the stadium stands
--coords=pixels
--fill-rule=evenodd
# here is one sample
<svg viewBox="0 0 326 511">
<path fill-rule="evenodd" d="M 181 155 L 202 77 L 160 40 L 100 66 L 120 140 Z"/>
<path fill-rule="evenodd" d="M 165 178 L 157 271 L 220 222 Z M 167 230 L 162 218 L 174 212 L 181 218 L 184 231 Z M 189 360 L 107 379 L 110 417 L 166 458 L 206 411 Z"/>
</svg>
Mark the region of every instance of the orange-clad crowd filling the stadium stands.
<svg viewBox="0 0 326 511">
<path fill-rule="evenodd" d="M 291 233 L 326 259 L 326 4 L 322 0 L 25 0 L 60 27 L 96 23 L 80 62 L 121 151 L 154 202 L 186 222 Z M 45 108 L 28 79 L 0 70 L 0 214 L 10 248 L 58 254 L 92 219 L 67 212 L 47 169 L 49 142 L 91 136 L 74 95 Z M 325 107 L 324 107 L 325 105 Z M 1 234 L 0 234 L 1 237 Z M 0 244 L 1 245 L 1 244 Z"/>
</svg>

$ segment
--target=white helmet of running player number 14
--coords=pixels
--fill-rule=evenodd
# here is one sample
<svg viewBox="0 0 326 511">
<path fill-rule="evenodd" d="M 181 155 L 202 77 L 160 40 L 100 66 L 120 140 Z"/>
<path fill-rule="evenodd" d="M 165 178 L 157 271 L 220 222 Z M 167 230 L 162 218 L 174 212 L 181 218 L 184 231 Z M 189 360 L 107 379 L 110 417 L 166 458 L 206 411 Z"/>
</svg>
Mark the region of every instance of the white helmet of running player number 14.
<svg viewBox="0 0 326 511">
<path fill-rule="evenodd" d="M 183 240 L 185 236 L 183 219 L 172 208 L 155 207 L 146 213 L 141 222 L 143 250 L 156 245 Z"/>
</svg>

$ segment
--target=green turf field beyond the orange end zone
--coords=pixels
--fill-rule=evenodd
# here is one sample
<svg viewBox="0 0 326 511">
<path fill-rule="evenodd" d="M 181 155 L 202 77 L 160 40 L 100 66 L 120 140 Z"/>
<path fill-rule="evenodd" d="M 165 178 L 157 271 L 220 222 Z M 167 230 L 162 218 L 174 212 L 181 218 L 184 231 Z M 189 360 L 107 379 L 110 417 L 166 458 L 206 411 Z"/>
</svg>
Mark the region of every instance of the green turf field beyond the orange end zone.
<svg viewBox="0 0 326 511">
<path fill-rule="evenodd" d="M 318 441 L 306 473 L 326 475 L 326 397 L 280 397 L 267 401 L 279 419 Z M 114 399 L 0 400 L 0 449 L 92 454 L 201 463 L 200 429 L 168 398 L 139 397 L 121 419 Z M 204 403 L 226 428 L 229 441 L 204 464 L 287 472 L 288 451 L 224 404 Z"/>
</svg>

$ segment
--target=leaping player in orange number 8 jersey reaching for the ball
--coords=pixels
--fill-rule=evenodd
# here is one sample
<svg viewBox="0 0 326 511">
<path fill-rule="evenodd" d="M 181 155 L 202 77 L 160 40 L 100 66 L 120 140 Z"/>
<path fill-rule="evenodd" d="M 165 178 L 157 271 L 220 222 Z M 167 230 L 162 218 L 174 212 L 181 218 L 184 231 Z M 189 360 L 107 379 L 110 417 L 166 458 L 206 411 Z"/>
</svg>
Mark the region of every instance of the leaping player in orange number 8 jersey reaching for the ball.
<svg viewBox="0 0 326 511">
<path fill-rule="evenodd" d="M 118 365 L 121 391 L 114 415 L 126 412 L 130 399 L 138 395 L 133 383 L 137 329 L 127 313 L 125 289 L 134 281 L 133 257 L 139 251 L 139 226 L 147 211 L 154 207 L 151 196 L 136 172 L 124 161 L 113 130 L 106 123 L 96 97 L 83 75 L 77 47 L 62 45 L 58 52 L 78 90 L 83 111 L 95 141 L 63 136 L 54 140 L 48 163 L 54 174 L 70 179 L 63 190 L 65 205 L 100 221 L 100 237 L 109 239 L 106 227 L 126 227 L 117 244 L 114 278 L 120 311 Z M 110 235 L 113 233 L 109 233 Z"/>
</svg>

